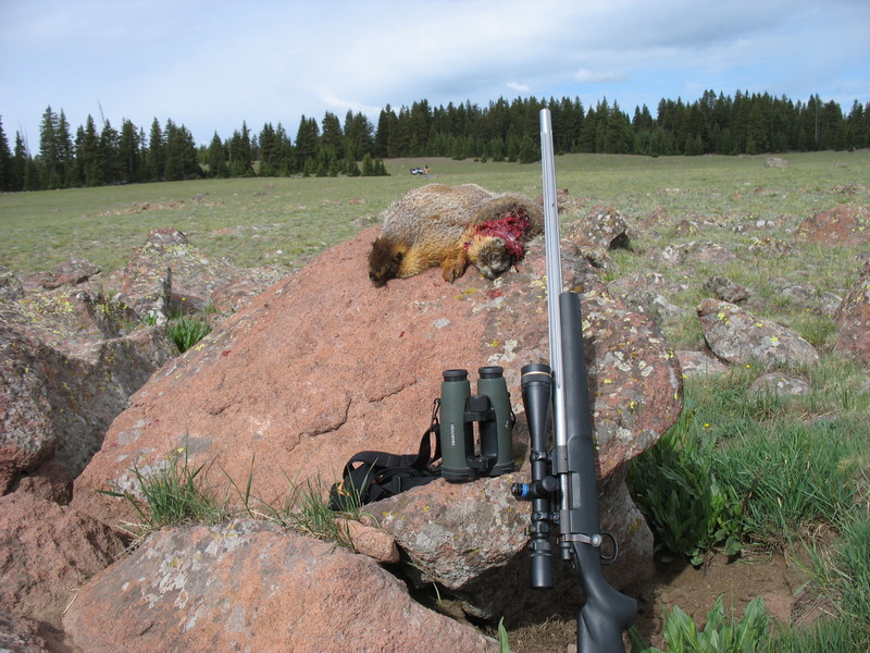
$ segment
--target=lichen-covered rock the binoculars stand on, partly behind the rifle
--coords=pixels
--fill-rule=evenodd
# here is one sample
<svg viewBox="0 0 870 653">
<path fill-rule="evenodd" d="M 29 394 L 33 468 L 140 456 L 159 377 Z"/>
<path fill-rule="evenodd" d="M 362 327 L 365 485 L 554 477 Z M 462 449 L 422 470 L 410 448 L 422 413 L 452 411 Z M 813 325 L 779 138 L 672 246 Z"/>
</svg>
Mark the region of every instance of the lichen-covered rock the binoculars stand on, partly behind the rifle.
<svg viewBox="0 0 870 653">
<path fill-rule="evenodd" d="M 527 541 L 529 513 L 510 494 L 511 483 L 531 480 L 524 471 L 472 483 L 436 481 L 373 503 L 370 510 L 407 554 L 417 583 L 437 582 L 464 595 L 474 615 L 498 618 L 530 592 L 529 552 L 517 555 Z M 652 574 L 652 535 L 623 480 L 622 473 L 609 478 L 599 502 L 601 529 L 619 538 L 618 563 L 607 572 L 620 588 Z M 576 596 L 579 588 L 575 576 L 566 583 Z"/>
</svg>

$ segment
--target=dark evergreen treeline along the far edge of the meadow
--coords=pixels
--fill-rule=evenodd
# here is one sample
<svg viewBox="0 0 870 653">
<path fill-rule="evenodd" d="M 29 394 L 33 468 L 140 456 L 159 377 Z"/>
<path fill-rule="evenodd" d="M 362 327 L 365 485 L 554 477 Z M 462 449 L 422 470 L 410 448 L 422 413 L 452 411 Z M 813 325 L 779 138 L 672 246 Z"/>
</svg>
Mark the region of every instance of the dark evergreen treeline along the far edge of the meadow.
<svg viewBox="0 0 870 653">
<path fill-rule="evenodd" d="M 848 114 L 818 95 L 807 102 L 769 94 L 712 90 L 695 102 L 659 101 L 656 115 L 644 107 L 629 115 L 617 102 L 583 107 L 580 99 L 499 98 L 487 107 L 471 102 L 430 107 L 426 100 L 398 111 L 387 104 L 372 125 L 348 111 L 344 123 L 326 112 L 304 115 L 295 139 L 281 123 L 251 133 L 246 123 L 229 138 L 216 133 L 197 146 L 184 125 L 157 119 L 150 131 L 128 120 L 100 128 L 88 116 L 73 137 L 61 110 L 42 115 L 39 151 L 30 153 L 16 133 L 14 149 L 0 122 L 0 189 L 36 190 L 104 184 L 228 176 L 335 176 L 386 174 L 384 159 L 474 158 L 532 163 L 539 159 L 538 113 L 549 107 L 558 153 L 644 156 L 755 155 L 870 147 L 870 102 L 857 100 Z M 360 165 L 361 162 L 361 165 Z"/>
</svg>

